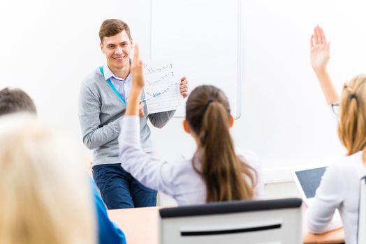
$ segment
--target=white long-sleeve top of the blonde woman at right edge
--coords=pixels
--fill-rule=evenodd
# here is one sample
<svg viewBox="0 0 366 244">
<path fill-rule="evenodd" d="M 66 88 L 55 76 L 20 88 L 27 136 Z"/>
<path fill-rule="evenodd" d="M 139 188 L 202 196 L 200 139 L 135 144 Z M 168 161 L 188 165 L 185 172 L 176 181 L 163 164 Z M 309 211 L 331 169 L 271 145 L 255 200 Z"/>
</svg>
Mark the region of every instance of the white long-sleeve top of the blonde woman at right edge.
<svg viewBox="0 0 366 244">
<path fill-rule="evenodd" d="M 362 156 L 362 151 L 344 156 L 325 169 L 314 201 L 307 210 L 307 227 L 313 233 L 328 231 L 338 209 L 346 243 L 357 243 L 360 179 L 366 175 Z"/>
</svg>

